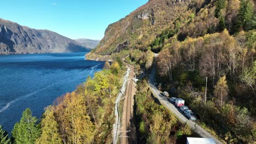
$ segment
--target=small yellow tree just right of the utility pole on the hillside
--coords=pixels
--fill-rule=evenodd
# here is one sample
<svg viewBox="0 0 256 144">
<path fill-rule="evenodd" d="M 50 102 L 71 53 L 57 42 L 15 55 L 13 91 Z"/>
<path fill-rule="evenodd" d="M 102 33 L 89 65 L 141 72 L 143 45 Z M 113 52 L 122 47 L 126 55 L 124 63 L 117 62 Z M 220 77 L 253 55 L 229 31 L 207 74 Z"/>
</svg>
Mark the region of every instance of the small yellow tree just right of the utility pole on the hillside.
<svg viewBox="0 0 256 144">
<path fill-rule="evenodd" d="M 214 96 L 220 107 L 225 103 L 228 97 L 228 85 L 226 84 L 226 76 L 220 77 L 216 86 L 214 87 Z"/>
</svg>

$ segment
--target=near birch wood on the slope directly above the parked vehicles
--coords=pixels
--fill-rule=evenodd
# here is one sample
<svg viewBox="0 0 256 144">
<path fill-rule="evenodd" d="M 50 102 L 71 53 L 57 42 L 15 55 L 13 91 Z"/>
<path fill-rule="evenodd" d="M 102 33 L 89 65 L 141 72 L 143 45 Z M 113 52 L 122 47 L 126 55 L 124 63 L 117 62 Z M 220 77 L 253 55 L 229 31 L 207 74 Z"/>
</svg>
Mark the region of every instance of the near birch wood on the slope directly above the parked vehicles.
<svg viewBox="0 0 256 144">
<path fill-rule="evenodd" d="M 228 143 L 255 140 L 255 34 L 232 37 L 224 30 L 184 41 L 173 38 L 156 60 L 158 81 L 176 89 L 200 122 Z M 254 44 L 249 42 L 253 37 Z"/>
</svg>

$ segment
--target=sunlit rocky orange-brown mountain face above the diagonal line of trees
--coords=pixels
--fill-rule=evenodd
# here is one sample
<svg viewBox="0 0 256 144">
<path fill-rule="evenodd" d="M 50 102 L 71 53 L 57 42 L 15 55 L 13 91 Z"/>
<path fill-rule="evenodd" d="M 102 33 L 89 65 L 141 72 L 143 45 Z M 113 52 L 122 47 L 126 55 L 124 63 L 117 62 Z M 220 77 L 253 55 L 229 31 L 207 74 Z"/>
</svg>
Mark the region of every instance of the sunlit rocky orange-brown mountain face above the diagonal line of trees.
<svg viewBox="0 0 256 144">
<path fill-rule="evenodd" d="M 191 3 L 191 0 L 149 0 L 123 19 L 110 24 L 104 38 L 92 52 L 111 55 L 125 49 L 146 49 L 164 29 L 174 29 L 180 15 L 188 17 L 186 11 L 193 8 Z"/>
</svg>

